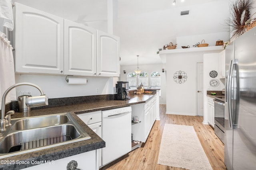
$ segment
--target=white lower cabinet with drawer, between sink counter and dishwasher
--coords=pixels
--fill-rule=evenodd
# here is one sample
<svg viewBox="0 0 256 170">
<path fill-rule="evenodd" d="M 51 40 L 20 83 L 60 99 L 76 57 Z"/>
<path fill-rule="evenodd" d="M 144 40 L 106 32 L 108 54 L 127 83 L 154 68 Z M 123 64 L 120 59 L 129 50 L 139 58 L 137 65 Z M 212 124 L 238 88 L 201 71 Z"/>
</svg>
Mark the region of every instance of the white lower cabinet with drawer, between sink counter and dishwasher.
<svg viewBox="0 0 256 170">
<path fill-rule="evenodd" d="M 90 127 L 99 137 L 102 138 L 101 111 L 82 113 L 77 115 L 88 127 Z M 97 149 L 98 168 L 102 165 L 101 149 Z"/>
</svg>

